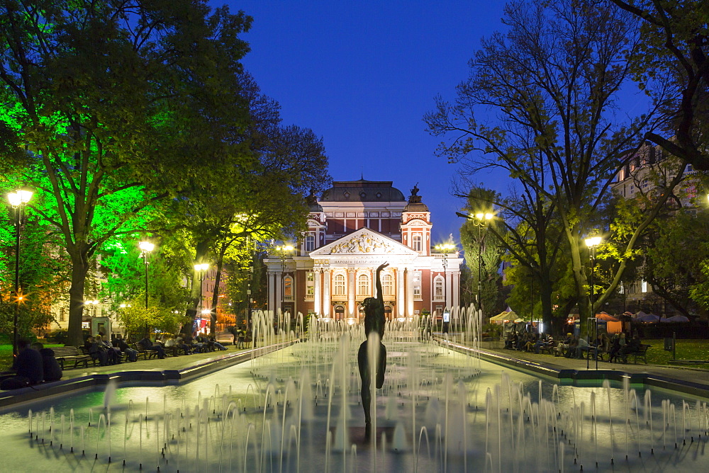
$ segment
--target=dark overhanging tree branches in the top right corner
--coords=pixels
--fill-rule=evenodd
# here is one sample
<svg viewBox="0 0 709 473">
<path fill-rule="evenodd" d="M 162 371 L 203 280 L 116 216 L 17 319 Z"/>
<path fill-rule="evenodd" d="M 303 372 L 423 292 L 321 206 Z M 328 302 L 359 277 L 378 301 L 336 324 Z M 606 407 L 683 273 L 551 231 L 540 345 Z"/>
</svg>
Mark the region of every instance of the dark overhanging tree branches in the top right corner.
<svg viewBox="0 0 709 473">
<path fill-rule="evenodd" d="M 665 136 L 650 130 L 645 139 L 696 169 L 709 171 L 709 4 L 703 0 L 611 1 L 641 20 L 635 79 L 656 100 L 658 92 L 652 84 L 661 80 Z M 664 96 L 668 84 L 671 95 Z"/>
</svg>

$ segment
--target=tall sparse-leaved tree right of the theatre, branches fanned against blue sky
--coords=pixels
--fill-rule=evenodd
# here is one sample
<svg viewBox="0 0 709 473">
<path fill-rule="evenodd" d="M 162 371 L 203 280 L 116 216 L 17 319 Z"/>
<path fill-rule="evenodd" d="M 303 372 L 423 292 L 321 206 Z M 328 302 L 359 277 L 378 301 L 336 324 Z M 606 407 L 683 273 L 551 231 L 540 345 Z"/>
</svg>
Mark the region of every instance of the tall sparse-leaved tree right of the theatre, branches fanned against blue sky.
<svg viewBox="0 0 709 473">
<path fill-rule="evenodd" d="M 502 169 L 543 195 L 561 223 L 571 260 L 581 321 L 588 306 L 584 236 L 603 205 L 616 171 L 630 159 L 652 114 L 621 122 L 615 98 L 630 77 L 635 21 L 605 2 L 567 0 L 508 4 L 507 35 L 482 41 L 471 75 L 457 87 L 455 103 L 437 99 L 426 115 L 430 132 L 450 140 L 438 149 L 469 171 Z M 478 108 L 493 108 L 488 125 Z M 542 186 L 539 176 L 545 176 Z M 681 179 L 668 183 L 674 186 Z M 665 197 L 666 198 L 666 197 Z M 659 203 L 658 205 L 661 205 Z M 627 239 L 632 249 L 657 208 Z M 621 259 L 608 291 L 627 265 Z M 601 304 L 604 293 L 596 304 Z"/>
</svg>

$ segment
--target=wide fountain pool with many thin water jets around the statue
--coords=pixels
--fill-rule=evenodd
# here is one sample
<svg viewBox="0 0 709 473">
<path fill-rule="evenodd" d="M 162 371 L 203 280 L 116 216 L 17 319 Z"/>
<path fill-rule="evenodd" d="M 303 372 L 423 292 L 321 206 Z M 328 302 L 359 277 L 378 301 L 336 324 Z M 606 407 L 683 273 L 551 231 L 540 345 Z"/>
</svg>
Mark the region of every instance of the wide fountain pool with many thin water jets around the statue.
<svg viewBox="0 0 709 473">
<path fill-rule="evenodd" d="M 451 342 L 479 339 L 461 309 Z M 259 346 L 279 333 L 260 314 Z M 0 414 L 3 469 L 160 472 L 709 471 L 705 399 L 629 382 L 560 386 L 386 327 L 387 377 L 365 438 L 357 348 L 364 329 L 307 321 L 307 339 L 181 385 L 109 385 Z M 31 410 L 30 410 L 31 409 Z M 374 413 L 376 412 L 376 416 Z M 598 466 L 596 466 L 598 465 Z"/>
</svg>

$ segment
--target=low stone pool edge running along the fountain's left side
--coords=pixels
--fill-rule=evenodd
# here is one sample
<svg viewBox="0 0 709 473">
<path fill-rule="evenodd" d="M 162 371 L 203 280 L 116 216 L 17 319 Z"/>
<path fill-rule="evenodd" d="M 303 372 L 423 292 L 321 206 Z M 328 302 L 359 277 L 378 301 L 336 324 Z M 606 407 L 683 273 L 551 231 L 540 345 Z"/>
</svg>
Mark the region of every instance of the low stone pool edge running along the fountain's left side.
<svg viewBox="0 0 709 473">
<path fill-rule="evenodd" d="M 44 397 L 67 396 L 69 394 L 92 391 L 98 386 L 105 386 L 108 384 L 109 380 L 116 380 L 119 387 L 121 387 L 121 384 L 150 384 L 153 386 L 179 384 L 180 382 L 194 380 L 196 377 L 208 375 L 211 372 L 221 370 L 231 365 L 244 363 L 252 358 L 272 353 L 281 348 L 286 348 L 296 342 L 296 340 L 291 340 L 260 348 L 252 348 L 239 353 L 221 355 L 218 358 L 200 361 L 182 370 L 130 370 L 113 373 L 95 373 L 93 375 L 75 377 L 69 380 L 48 382 L 36 386 L 13 389 L 12 391 L 3 391 L 0 392 L 0 413 L 10 409 L 16 409 L 22 404 L 35 402 Z"/>
</svg>

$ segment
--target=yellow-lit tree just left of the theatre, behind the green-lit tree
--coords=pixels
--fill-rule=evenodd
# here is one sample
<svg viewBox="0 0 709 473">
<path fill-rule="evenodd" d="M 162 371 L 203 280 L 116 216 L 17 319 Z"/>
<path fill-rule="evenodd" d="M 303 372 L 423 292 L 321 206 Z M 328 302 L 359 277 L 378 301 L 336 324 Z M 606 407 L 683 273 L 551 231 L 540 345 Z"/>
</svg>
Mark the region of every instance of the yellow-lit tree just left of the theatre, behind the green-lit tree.
<svg viewBox="0 0 709 473">
<path fill-rule="evenodd" d="M 241 74 L 238 81 L 250 114 L 250 125 L 238 139 L 248 145 L 251 166 L 225 169 L 214 181 L 192 181 L 173 203 L 172 222 L 166 222 L 187 229 L 194 260 L 211 261 L 216 268 L 212 331 L 225 256 L 245 239 L 284 239 L 301 232 L 308 215 L 305 196 L 324 190 L 331 180 L 323 140 L 312 130 L 283 126 L 278 103 L 261 92 L 250 74 Z M 192 284 L 190 299 L 187 315 L 194 319 L 199 285 Z"/>
</svg>

